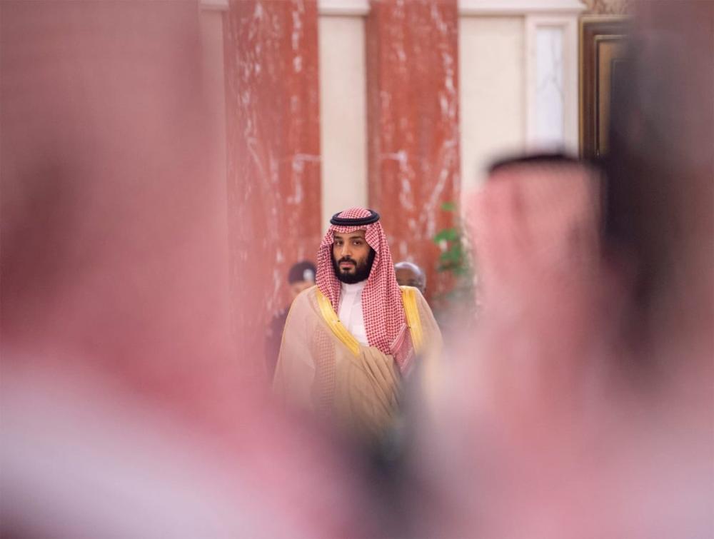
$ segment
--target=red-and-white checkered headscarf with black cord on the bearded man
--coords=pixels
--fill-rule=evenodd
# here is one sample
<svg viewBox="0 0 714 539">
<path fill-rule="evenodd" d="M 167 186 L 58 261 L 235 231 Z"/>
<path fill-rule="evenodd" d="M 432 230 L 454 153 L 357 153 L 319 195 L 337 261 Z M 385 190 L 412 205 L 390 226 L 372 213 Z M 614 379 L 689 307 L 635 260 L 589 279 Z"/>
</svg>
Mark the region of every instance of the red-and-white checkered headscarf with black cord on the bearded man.
<svg viewBox="0 0 714 539">
<path fill-rule="evenodd" d="M 374 249 L 372 270 L 362 291 L 367 339 L 370 346 L 392 355 L 400 371 L 404 371 L 411 356 L 411 341 L 406 338 L 406 319 L 392 255 L 378 219 L 378 213 L 365 208 L 350 208 L 333 216 L 317 253 L 317 286 L 338 312 L 341 287 L 332 266 L 333 233 L 365 231 L 365 239 Z"/>
</svg>

